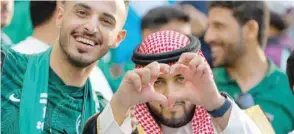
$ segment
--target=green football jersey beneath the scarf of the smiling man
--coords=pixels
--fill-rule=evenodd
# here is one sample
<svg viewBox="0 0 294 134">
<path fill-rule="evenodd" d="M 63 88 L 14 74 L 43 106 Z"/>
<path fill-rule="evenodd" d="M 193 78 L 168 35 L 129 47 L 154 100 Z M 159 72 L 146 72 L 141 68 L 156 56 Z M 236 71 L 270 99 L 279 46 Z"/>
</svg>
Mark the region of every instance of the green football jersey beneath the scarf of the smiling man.
<svg viewBox="0 0 294 134">
<path fill-rule="evenodd" d="M 11 49 L 5 49 L 5 59 L 1 76 L 1 133 L 20 133 L 19 111 L 22 97 L 22 85 L 27 64 L 33 55 L 22 55 Z M 42 74 L 39 74 L 42 75 Z M 82 131 L 81 112 L 83 106 L 83 87 L 67 86 L 50 69 L 48 103 L 45 116 L 44 133 L 79 134 Z M 107 101 L 97 93 L 100 110 Z"/>
</svg>

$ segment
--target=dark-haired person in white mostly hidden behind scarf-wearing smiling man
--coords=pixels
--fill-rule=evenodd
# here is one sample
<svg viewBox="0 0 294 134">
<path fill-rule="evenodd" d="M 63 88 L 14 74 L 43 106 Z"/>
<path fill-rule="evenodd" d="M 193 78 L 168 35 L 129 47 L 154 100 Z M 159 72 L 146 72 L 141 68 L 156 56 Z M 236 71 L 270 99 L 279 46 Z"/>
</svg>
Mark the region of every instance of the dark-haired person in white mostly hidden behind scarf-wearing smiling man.
<svg viewBox="0 0 294 134">
<path fill-rule="evenodd" d="M 33 35 L 14 45 L 12 49 L 23 54 L 34 54 L 46 51 L 56 43 L 59 29 L 56 27 L 57 10 L 63 4 L 56 1 L 31 1 L 30 14 L 34 27 Z M 92 87 L 110 100 L 112 90 L 99 67 L 90 74 Z"/>
</svg>

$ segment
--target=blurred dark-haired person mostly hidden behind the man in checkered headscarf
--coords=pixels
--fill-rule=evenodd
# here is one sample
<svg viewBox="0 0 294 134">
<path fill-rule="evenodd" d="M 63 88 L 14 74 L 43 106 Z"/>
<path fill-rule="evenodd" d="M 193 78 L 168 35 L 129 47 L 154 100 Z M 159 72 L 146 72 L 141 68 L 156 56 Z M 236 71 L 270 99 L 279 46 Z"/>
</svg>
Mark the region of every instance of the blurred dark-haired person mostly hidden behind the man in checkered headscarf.
<svg viewBox="0 0 294 134">
<path fill-rule="evenodd" d="M 156 7 L 142 17 L 142 39 L 150 33 L 159 30 L 174 30 L 184 34 L 192 34 L 200 39 L 202 44 L 201 50 L 205 58 L 207 58 L 208 63 L 211 65 L 211 51 L 203 40 L 203 35 L 207 27 L 206 25 L 207 17 L 205 14 L 191 5 Z"/>
</svg>

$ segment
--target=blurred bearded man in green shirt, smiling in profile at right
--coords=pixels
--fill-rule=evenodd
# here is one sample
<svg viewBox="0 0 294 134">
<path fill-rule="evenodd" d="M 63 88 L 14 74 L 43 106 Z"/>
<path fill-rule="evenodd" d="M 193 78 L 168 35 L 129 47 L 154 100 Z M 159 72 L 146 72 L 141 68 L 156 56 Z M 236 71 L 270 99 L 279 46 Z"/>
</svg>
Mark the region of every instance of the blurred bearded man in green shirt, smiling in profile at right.
<svg viewBox="0 0 294 134">
<path fill-rule="evenodd" d="M 277 134 L 294 129 L 294 96 L 287 76 L 263 48 L 269 11 L 262 1 L 218 1 L 209 5 L 205 41 L 212 48 L 215 82 L 239 106 L 260 105 Z"/>
</svg>

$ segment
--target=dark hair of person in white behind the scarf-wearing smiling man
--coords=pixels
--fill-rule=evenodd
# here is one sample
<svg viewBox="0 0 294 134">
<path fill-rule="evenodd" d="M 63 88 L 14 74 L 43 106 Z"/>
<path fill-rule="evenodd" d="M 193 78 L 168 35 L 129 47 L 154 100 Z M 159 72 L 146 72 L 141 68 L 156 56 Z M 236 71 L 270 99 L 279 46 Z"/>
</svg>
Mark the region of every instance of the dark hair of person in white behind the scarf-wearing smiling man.
<svg viewBox="0 0 294 134">
<path fill-rule="evenodd" d="M 47 22 L 54 14 L 56 1 L 31 1 L 30 13 L 33 27 Z"/>
</svg>

